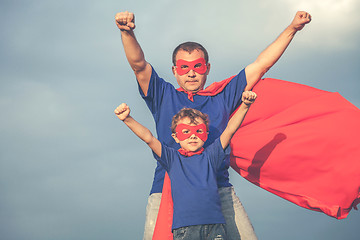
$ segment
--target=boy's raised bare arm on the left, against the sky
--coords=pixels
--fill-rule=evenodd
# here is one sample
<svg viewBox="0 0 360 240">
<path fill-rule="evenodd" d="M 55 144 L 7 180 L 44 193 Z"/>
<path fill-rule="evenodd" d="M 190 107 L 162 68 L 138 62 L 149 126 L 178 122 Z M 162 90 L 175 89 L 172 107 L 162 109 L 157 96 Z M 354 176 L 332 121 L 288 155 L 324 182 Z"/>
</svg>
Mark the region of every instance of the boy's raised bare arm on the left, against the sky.
<svg viewBox="0 0 360 240">
<path fill-rule="evenodd" d="M 126 126 L 130 128 L 131 131 L 135 133 L 141 140 L 143 140 L 156 155 L 161 157 L 161 143 L 160 141 L 152 135 L 150 130 L 138 121 L 130 116 L 130 108 L 125 103 L 120 104 L 115 110 L 114 113 L 116 116 L 123 121 Z"/>
</svg>

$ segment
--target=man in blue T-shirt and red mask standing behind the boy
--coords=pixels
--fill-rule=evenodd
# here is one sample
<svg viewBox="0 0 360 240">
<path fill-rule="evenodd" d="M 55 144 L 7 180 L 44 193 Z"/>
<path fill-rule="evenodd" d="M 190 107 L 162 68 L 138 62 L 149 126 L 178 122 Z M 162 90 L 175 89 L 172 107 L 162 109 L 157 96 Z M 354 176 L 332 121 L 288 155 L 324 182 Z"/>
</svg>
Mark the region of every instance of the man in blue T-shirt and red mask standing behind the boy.
<svg viewBox="0 0 360 240">
<path fill-rule="evenodd" d="M 251 64 L 238 75 L 228 79 L 225 87 L 215 96 L 204 93 L 203 88 L 210 71 L 207 51 L 198 43 L 179 45 L 173 53 L 173 74 L 180 86 L 178 91 L 161 79 L 145 60 L 144 53 L 136 40 L 135 17 L 133 13 L 121 12 L 115 16 L 121 30 L 121 38 L 128 62 L 139 84 L 140 94 L 152 112 L 158 138 L 163 143 L 177 148 L 168 134 L 171 116 L 182 107 L 196 108 L 210 117 L 209 144 L 224 130 L 231 113 L 241 104 L 244 90 L 250 90 L 282 56 L 297 31 L 311 21 L 307 12 L 297 12 L 291 24 Z M 168 127 L 167 127 L 168 126 Z M 216 130 L 216 131 L 214 131 Z M 241 202 L 228 179 L 229 164 L 225 164 L 218 175 L 222 211 L 226 220 L 229 239 L 257 239 Z M 147 206 L 144 239 L 151 239 L 161 199 L 165 170 L 158 165 Z"/>
</svg>

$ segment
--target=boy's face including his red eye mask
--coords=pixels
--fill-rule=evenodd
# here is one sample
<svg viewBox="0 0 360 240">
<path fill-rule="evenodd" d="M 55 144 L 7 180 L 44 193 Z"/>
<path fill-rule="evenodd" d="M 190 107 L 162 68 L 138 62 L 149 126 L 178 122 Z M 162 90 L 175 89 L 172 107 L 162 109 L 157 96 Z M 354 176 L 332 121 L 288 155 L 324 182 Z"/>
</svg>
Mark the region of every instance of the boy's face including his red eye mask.
<svg viewBox="0 0 360 240">
<path fill-rule="evenodd" d="M 190 123 L 188 117 L 180 119 L 176 131 L 177 133 L 173 133 L 172 137 L 182 149 L 190 152 L 199 151 L 207 139 L 206 125 L 201 118 L 196 119 L 196 124 Z"/>
</svg>

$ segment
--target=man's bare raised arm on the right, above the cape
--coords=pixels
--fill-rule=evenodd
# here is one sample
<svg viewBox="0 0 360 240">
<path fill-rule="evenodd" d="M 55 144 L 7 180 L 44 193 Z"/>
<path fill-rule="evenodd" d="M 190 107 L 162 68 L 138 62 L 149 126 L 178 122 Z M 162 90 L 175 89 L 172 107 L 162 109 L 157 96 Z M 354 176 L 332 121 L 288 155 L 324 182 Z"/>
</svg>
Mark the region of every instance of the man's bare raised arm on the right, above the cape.
<svg viewBox="0 0 360 240">
<path fill-rule="evenodd" d="M 279 60 L 297 31 L 304 28 L 305 24 L 311 21 L 309 13 L 299 11 L 296 13 L 291 24 L 270 44 L 255 60 L 245 68 L 247 86 L 245 90 L 250 90 L 264 74 Z"/>
</svg>

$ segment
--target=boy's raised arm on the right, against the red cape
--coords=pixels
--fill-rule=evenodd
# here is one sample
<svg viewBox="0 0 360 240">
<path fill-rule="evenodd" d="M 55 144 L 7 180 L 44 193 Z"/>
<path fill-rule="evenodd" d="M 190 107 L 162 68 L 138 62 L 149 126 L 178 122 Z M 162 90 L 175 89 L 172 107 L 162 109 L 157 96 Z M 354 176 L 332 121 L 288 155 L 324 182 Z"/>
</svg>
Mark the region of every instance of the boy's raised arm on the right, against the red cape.
<svg viewBox="0 0 360 240">
<path fill-rule="evenodd" d="M 257 95 L 254 92 L 243 92 L 242 104 L 234 113 L 234 115 L 230 118 L 225 130 L 220 136 L 220 142 L 223 149 L 225 149 L 229 145 L 231 138 L 234 136 L 236 130 L 238 130 L 241 126 L 241 123 L 243 122 L 245 115 L 250 108 L 250 105 L 255 102 L 256 98 Z"/>
</svg>

